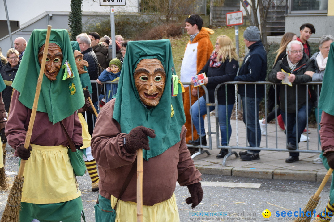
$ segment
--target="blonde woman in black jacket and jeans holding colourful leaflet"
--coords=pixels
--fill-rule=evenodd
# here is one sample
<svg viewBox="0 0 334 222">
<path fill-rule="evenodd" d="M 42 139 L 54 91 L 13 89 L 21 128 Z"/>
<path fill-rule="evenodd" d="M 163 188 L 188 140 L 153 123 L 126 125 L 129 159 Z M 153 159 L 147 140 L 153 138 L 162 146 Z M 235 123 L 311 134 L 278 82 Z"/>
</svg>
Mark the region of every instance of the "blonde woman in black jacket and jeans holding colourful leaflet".
<svg viewBox="0 0 334 222">
<path fill-rule="evenodd" d="M 236 54 L 235 46 L 232 40 L 225 35 L 217 37 L 215 49 L 213 50 L 209 60 L 198 73 L 205 73 L 206 78 L 204 82 L 208 90 L 209 103 L 214 103 L 214 91 L 218 84 L 233 81 L 238 71 L 238 55 Z M 191 81 L 193 85 L 193 81 Z M 227 90 L 225 91 L 225 87 Z M 221 135 L 221 145 L 227 146 L 231 137 L 232 128 L 230 124 L 230 118 L 235 100 L 235 91 L 233 85 L 222 85 L 217 91 L 218 97 L 218 121 Z M 227 99 L 227 103 L 226 103 Z M 199 104 L 199 105 L 198 105 Z M 199 106 L 199 109 L 198 109 Z M 214 106 L 209 106 L 209 110 L 214 110 Z M 227 112 L 226 112 L 227 110 Z M 205 95 L 199 98 L 192 106 L 192 120 L 199 134 L 199 138 L 196 140 L 189 140 L 190 144 L 199 145 L 200 139 L 202 145 L 206 145 L 204 119 L 203 115 L 206 114 L 206 101 Z M 199 128 L 201 123 L 201 128 Z M 220 150 L 217 158 L 223 158 L 228 153 L 228 150 L 223 148 Z"/>
</svg>

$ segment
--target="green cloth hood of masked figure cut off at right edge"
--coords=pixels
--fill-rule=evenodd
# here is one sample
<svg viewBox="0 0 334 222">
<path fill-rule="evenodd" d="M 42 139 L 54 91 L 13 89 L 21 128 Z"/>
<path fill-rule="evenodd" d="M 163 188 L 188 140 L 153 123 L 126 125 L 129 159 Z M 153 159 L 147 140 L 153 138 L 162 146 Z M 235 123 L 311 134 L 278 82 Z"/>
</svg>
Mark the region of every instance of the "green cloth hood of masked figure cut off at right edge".
<svg viewBox="0 0 334 222">
<path fill-rule="evenodd" d="M 322 80 L 321 93 L 318 107 L 330 115 L 334 115 L 334 42 L 331 43 L 324 78 Z"/>
</svg>

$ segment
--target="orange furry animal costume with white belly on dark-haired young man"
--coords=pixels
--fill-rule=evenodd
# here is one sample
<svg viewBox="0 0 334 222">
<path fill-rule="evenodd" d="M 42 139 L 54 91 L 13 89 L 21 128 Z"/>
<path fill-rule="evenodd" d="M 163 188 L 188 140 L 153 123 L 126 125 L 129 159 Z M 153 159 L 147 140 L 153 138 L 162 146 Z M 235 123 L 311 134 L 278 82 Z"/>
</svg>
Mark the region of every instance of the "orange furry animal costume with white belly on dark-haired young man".
<svg viewBox="0 0 334 222">
<path fill-rule="evenodd" d="M 182 60 L 181 65 L 181 82 L 190 82 L 190 77 L 195 76 L 198 74 L 199 71 L 205 66 L 206 62 L 210 58 L 210 55 L 213 51 L 213 46 L 210 41 L 210 35 L 212 35 L 214 31 L 208 28 L 202 28 L 201 31 L 196 35 L 192 42 L 188 42 L 184 57 Z M 196 59 L 196 63 L 195 60 Z M 192 64 L 196 64 L 196 69 Z M 189 98 L 189 89 L 190 92 L 194 89 L 193 86 L 185 87 L 184 94 L 183 94 L 183 107 L 184 107 L 184 114 L 186 116 L 185 127 L 187 128 L 186 134 L 186 142 L 188 143 L 191 140 L 191 116 L 190 116 L 190 103 L 189 100 L 191 99 L 191 105 L 197 100 L 197 96 L 190 95 Z M 204 90 L 200 87 L 199 88 L 199 97 L 203 96 Z M 197 131 L 195 127 L 194 130 L 194 139 L 198 138 Z"/>
</svg>

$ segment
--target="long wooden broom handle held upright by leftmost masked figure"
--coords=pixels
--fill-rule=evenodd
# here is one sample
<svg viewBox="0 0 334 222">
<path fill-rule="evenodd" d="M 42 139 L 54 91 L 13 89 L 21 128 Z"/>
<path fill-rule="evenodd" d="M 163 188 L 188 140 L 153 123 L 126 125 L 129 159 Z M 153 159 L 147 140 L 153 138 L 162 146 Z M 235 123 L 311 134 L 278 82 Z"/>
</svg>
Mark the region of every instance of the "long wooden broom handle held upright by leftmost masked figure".
<svg viewBox="0 0 334 222">
<path fill-rule="evenodd" d="M 26 149 L 28 149 L 28 147 L 29 147 L 32 127 L 33 127 L 34 122 L 35 122 L 38 99 L 39 99 L 39 93 L 41 91 L 42 80 L 43 80 L 43 75 L 44 75 L 44 68 L 45 68 L 45 62 L 46 62 L 46 57 L 47 57 L 47 50 L 49 48 L 50 34 L 51 34 L 51 26 L 48 25 L 47 26 L 47 32 L 46 32 L 45 46 L 44 46 L 44 51 L 43 51 L 43 59 L 42 59 L 42 63 L 41 63 L 41 68 L 39 70 L 38 80 L 37 80 L 37 87 L 36 87 L 36 92 L 35 92 L 34 103 L 32 105 L 32 111 L 31 111 L 31 116 L 30 116 L 30 120 L 29 120 L 28 130 L 27 130 L 27 134 L 25 136 L 25 141 L 24 141 L 24 148 L 26 148 Z M 17 176 L 19 178 L 23 176 L 25 162 L 26 162 L 26 160 L 21 159 L 19 172 L 17 174 Z"/>
</svg>

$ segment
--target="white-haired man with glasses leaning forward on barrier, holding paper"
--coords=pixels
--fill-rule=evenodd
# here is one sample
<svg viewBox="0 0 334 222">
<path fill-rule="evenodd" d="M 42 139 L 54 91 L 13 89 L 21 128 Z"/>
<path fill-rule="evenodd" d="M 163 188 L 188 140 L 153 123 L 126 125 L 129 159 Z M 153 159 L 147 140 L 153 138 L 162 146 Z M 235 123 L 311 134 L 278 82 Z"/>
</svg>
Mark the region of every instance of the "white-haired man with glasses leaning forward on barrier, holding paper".
<svg viewBox="0 0 334 222">
<path fill-rule="evenodd" d="M 289 150 L 297 149 L 300 136 L 306 127 L 307 113 L 310 114 L 312 108 L 311 96 L 307 97 L 306 85 L 299 85 L 296 93 L 297 84 L 312 81 L 311 76 L 305 75 L 308 71 L 315 72 L 314 63 L 303 53 L 303 44 L 295 40 L 288 44 L 287 55 L 276 64 L 268 76 L 270 82 L 280 83 L 288 75 L 287 79 L 292 83 L 292 87 L 285 85 L 285 88 L 280 90 L 281 114 L 286 125 L 287 149 Z M 308 106 L 306 105 L 307 99 L 309 100 Z M 299 160 L 299 152 L 290 152 L 285 162 L 293 163 L 297 160 Z"/>
</svg>

